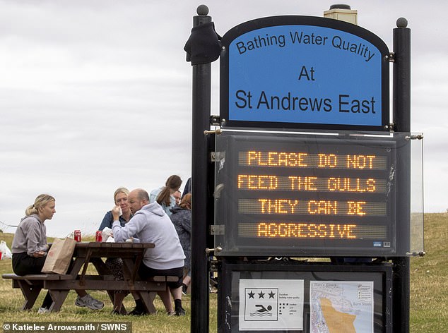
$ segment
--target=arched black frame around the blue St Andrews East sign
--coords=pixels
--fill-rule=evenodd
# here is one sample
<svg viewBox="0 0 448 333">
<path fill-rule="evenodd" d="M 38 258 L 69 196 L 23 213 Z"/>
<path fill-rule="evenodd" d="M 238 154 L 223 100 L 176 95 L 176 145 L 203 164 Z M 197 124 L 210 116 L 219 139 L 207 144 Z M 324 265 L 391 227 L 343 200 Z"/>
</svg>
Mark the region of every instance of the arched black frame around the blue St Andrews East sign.
<svg viewBox="0 0 448 333">
<path fill-rule="evenodd" d="M 340 32 L 347 32 L 350 35 L 360 37 L 361 40 L 365 40 L 366 42 L 370 42 L 372 45 L 375 45 L 379 52 L 381 53 L 382 57 L 382 64 L 379 71 L 381 73 L 381 105 L 377 106 L 377 108 L 381 108 L 381 124 L 375 124 L 375 125 L 359 125 L 359 124 L 348 124 L 344 123 L 343 117 L 341 117 L 341 121 L 337 121 L 337 123 L 319 123 L 319 121 L 309 121 L 301 123 L 300 121 L 259 121 L 257 119 L 250 119 L 247 120 L 234 120 L 230 117 L 230 102 L 229 102 L 229 85 L 230 85 L 230 71 L 232 68 L 230 68 L 230 59 L 229 59 L 229 47 L 230 44 L 241 35 L 252 32 L 253 30 L 259 30 L 263 28 L 269 28 L 269 27 L 281 27 L 281 26 L 302 26 L 302 27 L 318 27 L 318 28 L 328 28 L 328 30 L 331 31 L 340 31 Z M 262 34 L 261 34 L 262 35 Z M 271 37 L 271 36 L 266 36 Z M 260 38 L 265 38 L 264 35 L 262 35 Z M 325 38 L 325 37 L 322 37 Z M 257 44 L 257 41 L 254 41 Z M 264 44 L 269 44 L 269 40 L 264 42 Z M 365 130 L 365 131 L 389 131 L 389 49 L 387 48 L 387 45 L 379 38 L 377 35 L 373 34 L 369 30 L 365 30 L 364 28 L 359 27 L 358 25 L 353 25 L 350 23 L 342 22 L 340 20 L 333 20 L 328 18 L 318 18 L 318 17 L 312 17 L 312 16 L 273 16 L 273 17 L 266 17 L 266 18 L 259 18 L 256 20 L 250 20 L 245 23 L 242 23 L 240 25 L 235 26 L 235 28 L 232 28 L 229 30 L 224 36 L 222 40 L 223 44 L 223 51 L 220 54 L 220 117 L 222 120 L 221 126 L 223 128 L 225 127 L 257 127 L 257 128 L 312 128 L 312 129 L 338 129 L 338 130 Z M 365 46 L 363 46 L 362 43 L 359 45 L 353 45 L 353 47 L 358 47 L 357 52 L 358 54 L 362 54 L 362 52 L 365 52 Z M 247 46 L 244 46 L 244 48 L 248 48 Z M 300 59 L 300 54 L 297 54 L 297 59 Z M 309 59 L 307 59 L 308 61 Z M 330 59 L 329 59 L 330 60 Z M 300 61 L 299 61 L 300 63 Z M 266 67 L 262 67 L 266 66 Z M 261 65 L 262 68 L 259 68 L 259 71 L 271 71 L 271 68 L 269 68 L 269 63 L 266 63 L 264 65 Z M 349 67 L 349 66 L 348 66 Z M 302 67 L 302 71 L 304 70 L 304 67 Z M 234 72 L 237 71 L 236 69 Z M 312 69 L 308 68 L 306 76 L 310 77 L 310 71 L 313 71 Z M 348 68 L 348 71 L 350 71 L 350 68 Z M 329 74 L 326 74 L 329 75 Z M 354 74 L 355 75 L 355 74 Z M 339 82 L 343 82 L 346 78 L 338 78 Z M 254 80 L 252 80 L 253 82 Z M 268 80 L 269 81 L 269 80 Z M 370 83 L 368 81 L 365 81 L 363 85 L 369 85 Z M 334 85 L 332 85 L 334 87 Z M 337 89 L 338 85 L 334 87 L 334 89 Z M 366 87 L 367 90 L 370 89 L 370 87 Z M 297 92 L 300 94 L 300 92 Z M 324 93 L 324 92 L 322 92 Z M 339 96 L 346 96 L 343 95 L 344 92 L 341 92 L 342 95 Z M 247 100 L 244 100 L 247 98 L 247 92 L 242 93 L 239 97 L 240 104 L 246 104 Z M 298 99 L 297 99 L 298 100 Z M 266 99 L 263 99 L 263 102 L 266 102 Z M 280 102 L 280 100 L 278 101 Z M 297 102 L 297 101 L 296 101 Z M 306 101 L 304 101 L 306 102 Z M 315 101 L 314 101 L 315 102 Z M 324 99 L 324 103 L 329 102 L 329 99 Z M 333 101 L 336 103 L 336 101 Z M 341 103 L 341 97 L 338 101 Z M 310 103 L 307 102 L 307 103 Z M 345 104 L 345 102 L 342 102 Z M 365 100 L 365 103 L 367 105 L 368 101 Z M 327 104 L 329 106 L 329 104 Z M 233 106 L 232 106 L 233 107 Z M 297 106 L 297 108 L 300 108 L 300 106 Z M 249 110 L 247 110 L 249 111 Z M 328 109 L 326 110 L 328 111 Z M 358 110 L 359 111 L 359 110 Z M 366 109 L 367 111 L 367 109 Z M 322 111 L 322 114 L 325 114 L 324 111 Z M 347 114 L 345 114 L 347 115 Z M 345 116 L 343 115 L 343 116 Z M 341 115 L 342 116 L 342 115 Z"/>
</svg>

